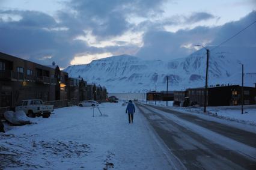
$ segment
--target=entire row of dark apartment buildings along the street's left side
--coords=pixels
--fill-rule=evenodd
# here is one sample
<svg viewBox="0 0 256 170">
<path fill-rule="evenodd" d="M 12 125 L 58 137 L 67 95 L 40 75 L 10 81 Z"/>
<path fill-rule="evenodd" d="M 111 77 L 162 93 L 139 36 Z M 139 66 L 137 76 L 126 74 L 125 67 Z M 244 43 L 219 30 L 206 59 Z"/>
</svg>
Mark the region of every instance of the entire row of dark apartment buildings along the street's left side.
<svg viewBox="0 0 256 170">
<path fill-rule="evenodd" d="M 105 100 L 106 93 L 105 87 L 87 86 L 80 77 L 69 78 L 58 65 L 40 65 L 0 52 L 0 108 L 13 109 L 20 100 L 26 99 L 41 99 L 47 103 Z"/>
</svg>

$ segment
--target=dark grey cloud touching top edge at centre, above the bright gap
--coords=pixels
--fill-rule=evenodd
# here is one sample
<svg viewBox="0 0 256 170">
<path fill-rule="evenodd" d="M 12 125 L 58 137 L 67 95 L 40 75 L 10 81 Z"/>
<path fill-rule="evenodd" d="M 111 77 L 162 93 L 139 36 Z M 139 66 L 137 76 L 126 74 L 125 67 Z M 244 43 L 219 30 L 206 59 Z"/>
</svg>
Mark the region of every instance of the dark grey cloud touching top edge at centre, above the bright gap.
<svg viewBox="0 0 256 170">
<path fill-rule="evenodd" d="M 73 17 L 73 19 L 71 19 L 72 22 L 74 20 L 82 20 L 83 22 L 79 24 L 79 28 L 91 29 L 93 34 L 96 35 L 99 40 L 102 40 L 106 37 L 121 35 L 132 28 L 134 25 L 127 22 L 127 17 L 131 14 L 140 17 L 150 17 L 161 14 L 163 11 L 160 10 L 160 5 L 165 1 L 166 0 L 73 0 L 68 2 L 68 5 L 72 11 L 76 12 L 75 16 L 72 13 L 70 14 Z M 65 15 L 67 18 L 67 13 L 62 15 Z M 68 18 L 69 17 L 70 16 L 68 16 Z"/>
</svg>

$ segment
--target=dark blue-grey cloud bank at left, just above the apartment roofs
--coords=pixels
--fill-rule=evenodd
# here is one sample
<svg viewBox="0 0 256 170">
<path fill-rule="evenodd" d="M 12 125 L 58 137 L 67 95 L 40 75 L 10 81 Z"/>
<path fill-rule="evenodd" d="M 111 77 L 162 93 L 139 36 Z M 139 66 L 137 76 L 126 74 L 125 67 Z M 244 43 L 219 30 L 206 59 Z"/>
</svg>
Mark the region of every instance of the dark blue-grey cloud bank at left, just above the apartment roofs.
<svg viewBox="0 0 256 170">
<path fill-rule="evenodd" d="M 56 31 L 61 26 L 53 17 L 36 11 L 0 11 L 19 14 L 22 19 L 15 22 L 0 21 L 0 51 L 49 65 L 55 61 L 61 67 L 69 65 L 76 53 L 84 50 L 96 51 L 84 41 L 71 40 L 68 31 Z M 99 49 L 100 51 L 100 49 Z M 52 58 L 43 59 L 44 56 Z"/>
</svg>

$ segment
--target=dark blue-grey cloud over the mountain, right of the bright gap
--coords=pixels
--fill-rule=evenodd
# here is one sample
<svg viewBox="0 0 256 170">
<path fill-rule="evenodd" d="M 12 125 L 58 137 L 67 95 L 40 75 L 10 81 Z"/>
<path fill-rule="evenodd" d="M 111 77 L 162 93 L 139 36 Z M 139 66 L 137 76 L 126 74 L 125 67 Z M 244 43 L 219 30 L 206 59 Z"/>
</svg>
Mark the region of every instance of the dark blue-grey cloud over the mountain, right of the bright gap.
<svg viewBox="0 0 256 170">
<path fill-rule="evenodd" d="M 136 54 L 147 59 L 181 58 L 193 52 L 189 46 L 212 40 L 216 29 L 199 26 L 191 30 L 180 30 L 175 33 L 150 31 L 144 35 L 144 46 Z"/>
</svg>

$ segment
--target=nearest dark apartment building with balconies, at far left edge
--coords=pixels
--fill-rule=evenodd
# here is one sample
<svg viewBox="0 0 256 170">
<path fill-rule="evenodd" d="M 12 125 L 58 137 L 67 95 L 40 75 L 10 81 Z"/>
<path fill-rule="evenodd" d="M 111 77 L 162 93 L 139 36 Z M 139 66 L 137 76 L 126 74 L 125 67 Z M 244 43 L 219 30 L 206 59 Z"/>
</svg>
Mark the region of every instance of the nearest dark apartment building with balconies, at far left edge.
<svg viewBox="0 0 256 170">
<path fill-rule="evenodd" d="M 56 77 L 52 68 L 0 53 L 0 108 L 25 99 L 55 100 Z"/>
</svg>

